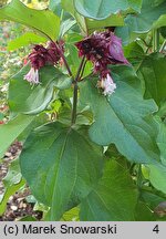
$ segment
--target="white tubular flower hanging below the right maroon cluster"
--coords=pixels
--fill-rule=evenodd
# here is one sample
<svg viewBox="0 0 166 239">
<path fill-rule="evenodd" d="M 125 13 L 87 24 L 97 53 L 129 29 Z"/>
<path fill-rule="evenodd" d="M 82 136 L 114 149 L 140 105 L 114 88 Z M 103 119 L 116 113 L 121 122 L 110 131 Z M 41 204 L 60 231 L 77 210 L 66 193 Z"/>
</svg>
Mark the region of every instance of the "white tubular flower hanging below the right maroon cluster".
<svg viewBox="0 0 166 239">
<path fill-rule="evenodd" d="M 100 81 L 98 86 L 104 90 L 103 94 L 105 96 L 111 95 L 113 92 L 115 92 L 116 89 L 116 84 L 113 82 L 113 79 L 110 74 L 107 74 L 105 79 L 102 79 Z"/>
</svg>

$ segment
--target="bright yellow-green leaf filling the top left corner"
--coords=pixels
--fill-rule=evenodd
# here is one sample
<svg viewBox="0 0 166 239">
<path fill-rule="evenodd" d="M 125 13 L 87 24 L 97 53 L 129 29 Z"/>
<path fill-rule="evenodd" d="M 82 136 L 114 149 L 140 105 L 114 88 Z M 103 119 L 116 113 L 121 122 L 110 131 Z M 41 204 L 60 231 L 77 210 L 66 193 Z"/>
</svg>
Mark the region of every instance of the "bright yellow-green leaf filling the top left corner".
<svg viewBox="0 0 166 239">
<path fill-rule="evenodd" d="M 0 9 L 0 20 L 19 22 L 52 40 L 56 40 L 60 31 L 60 19 L 52 11 L 30 9 L 19 0 Z"/>
</svg>

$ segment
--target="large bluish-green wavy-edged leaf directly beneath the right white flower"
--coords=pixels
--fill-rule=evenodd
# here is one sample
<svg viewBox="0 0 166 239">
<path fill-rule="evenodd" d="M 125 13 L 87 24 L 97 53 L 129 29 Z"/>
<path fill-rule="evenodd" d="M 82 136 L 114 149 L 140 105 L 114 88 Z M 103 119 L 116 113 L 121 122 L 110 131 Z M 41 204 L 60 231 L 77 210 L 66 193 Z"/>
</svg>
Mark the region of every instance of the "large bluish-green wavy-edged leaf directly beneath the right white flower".
<svg viewBox="0 0 166 239">
<path fill-rule="evenodd" d="M 158 126 L 151 116 L 157 111 L 155 103 L 143 100 L 132 67 L 114 67 L 113 79 L 117 89 L 107 98 L 97 91 L 95 79 L 80 85 L 82 104 L 90 105 L 94 113 L 90 137 L 100 145 L 114 143 L 129 160 L 152 163 L 158 159 L 155 142 Z"/>
</svg>

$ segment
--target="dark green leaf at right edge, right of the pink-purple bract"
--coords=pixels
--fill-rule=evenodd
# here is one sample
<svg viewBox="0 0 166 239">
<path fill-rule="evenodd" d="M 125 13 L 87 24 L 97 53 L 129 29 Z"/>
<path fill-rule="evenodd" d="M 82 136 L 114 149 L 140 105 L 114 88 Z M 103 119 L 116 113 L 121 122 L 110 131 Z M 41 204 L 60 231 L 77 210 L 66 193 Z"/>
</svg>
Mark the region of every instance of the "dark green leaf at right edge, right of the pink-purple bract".
<svg viewBox="0 0 166 239">
<path fill-rule="evenodd" d="M 166 100 L 166 58 L 152 54 L 145 58 L 139 72 L 145 82 L 145 97 L 154 98 L 157 104 Z"/>
</svg>

